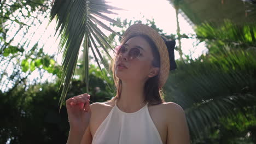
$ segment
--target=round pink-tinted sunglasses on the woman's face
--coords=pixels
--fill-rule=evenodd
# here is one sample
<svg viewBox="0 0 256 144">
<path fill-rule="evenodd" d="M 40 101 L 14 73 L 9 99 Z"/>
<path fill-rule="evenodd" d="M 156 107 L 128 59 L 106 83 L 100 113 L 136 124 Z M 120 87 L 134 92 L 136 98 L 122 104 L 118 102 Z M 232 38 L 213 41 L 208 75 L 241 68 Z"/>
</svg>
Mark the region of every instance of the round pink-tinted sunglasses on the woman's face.
<svg viewBox="0 0 256 144">
<path fill-rule="evenodd" d="M 120 57 L 121 55 L 123 55 L 123 53 L 125 53 L 127 51 L 127 46 L 125 45 L 117 45 L 114 48 L 114 55 L 116 57 Z M 135 59 L 137 58 L 139 55 L 141 54 L 141 50 L 139 50 L 137 47 L 133 47 L 132 49 L 130 49 L 130 51 L 128 52 L 128 58 L 129 60 L 131 59 Z"/>
</svg>

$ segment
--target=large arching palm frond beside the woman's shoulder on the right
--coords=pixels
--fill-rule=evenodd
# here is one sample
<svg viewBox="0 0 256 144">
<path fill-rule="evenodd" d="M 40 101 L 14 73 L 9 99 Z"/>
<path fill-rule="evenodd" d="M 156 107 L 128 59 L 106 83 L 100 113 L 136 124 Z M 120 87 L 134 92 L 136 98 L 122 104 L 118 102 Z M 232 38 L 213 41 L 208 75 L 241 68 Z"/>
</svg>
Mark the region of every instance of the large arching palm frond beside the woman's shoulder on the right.
<svg viewBox="0 0 256 144">
<path fill-rule="evenodd" d="M 207 137 L 220 118 L 248 114 L 256 103 L 256 52 L 233 50 L 177 62 L 166 89 L 166 101 L 185 110 L 192 140 Z M 207 133 L 208 131 L 208 133 Z"/>
</svg>

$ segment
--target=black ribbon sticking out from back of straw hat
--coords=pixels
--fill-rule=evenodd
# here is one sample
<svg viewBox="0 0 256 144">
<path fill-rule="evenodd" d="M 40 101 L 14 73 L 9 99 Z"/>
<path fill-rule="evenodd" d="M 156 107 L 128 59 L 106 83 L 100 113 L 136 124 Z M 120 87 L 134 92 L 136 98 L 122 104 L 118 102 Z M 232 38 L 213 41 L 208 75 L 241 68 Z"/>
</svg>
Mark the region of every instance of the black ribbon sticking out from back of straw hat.
<svg viewBox="0 0 256 144">
<path fill-rule="evenodd" d="M 165 41 L 165 45 L 168 50 L 169 54 L 169 61 L 170 61 L 170 70 L 174 70 L 177 68 L 175 59 L 174 59 L 174 48 L 176 45 L 175 40 L 166 40 L 165 38 L 162 37 L 162 39 Z"/>
</svg>

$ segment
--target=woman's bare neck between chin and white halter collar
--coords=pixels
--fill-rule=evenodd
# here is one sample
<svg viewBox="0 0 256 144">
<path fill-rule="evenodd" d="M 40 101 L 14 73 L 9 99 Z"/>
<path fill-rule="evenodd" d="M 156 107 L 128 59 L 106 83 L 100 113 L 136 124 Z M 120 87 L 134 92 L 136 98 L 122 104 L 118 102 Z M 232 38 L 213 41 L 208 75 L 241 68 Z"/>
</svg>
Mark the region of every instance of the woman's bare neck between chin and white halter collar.
<svg viewBox="0 0 256 144">
<path fill-rule="evenodd" d="M 124 112 L 135 112 L 141 109 L 144 102 L 144 83 L 122 82 L 122 90 L 117 105 Z"/>
</svg>

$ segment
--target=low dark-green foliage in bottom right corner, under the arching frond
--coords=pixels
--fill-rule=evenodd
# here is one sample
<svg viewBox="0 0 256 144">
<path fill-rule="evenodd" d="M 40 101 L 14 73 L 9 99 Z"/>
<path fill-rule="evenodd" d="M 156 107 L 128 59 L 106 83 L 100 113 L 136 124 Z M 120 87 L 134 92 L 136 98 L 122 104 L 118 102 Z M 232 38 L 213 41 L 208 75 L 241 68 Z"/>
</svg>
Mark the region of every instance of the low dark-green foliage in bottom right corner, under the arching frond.
<svg viewBox="0 0 256 144">
<path fill-rule="evenodd" d="M 232 118 L 220 118 L 219 124 L 211 129 L 211 133 L 193 143 L 254 143 L 256 130 L 255 108 L 246 109 L 246 115 L 237 113 Z"/>
</svg>

